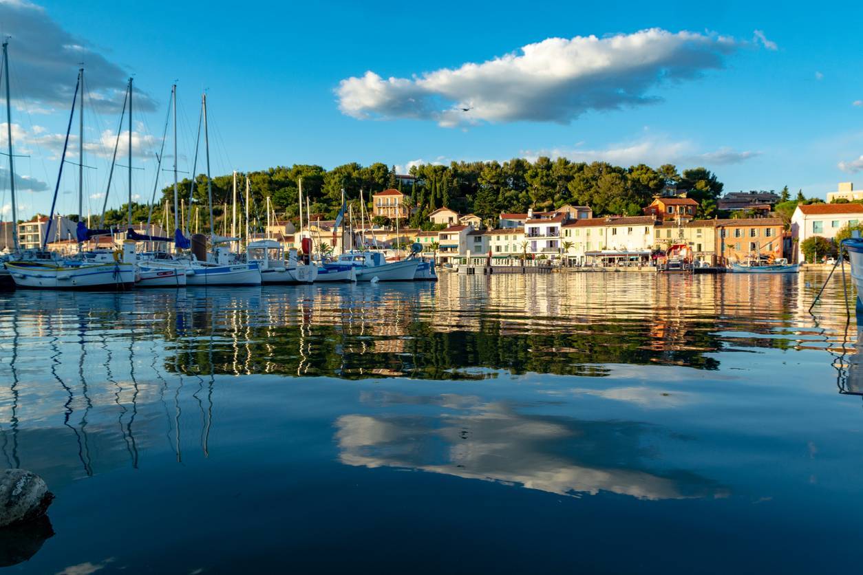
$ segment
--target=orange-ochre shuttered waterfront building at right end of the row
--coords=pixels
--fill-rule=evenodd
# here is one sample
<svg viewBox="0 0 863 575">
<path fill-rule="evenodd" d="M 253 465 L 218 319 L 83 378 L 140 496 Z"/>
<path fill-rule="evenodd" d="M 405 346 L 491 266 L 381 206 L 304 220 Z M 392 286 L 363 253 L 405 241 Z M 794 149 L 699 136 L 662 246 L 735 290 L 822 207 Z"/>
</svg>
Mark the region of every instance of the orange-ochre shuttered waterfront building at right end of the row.
<svg viewBox="0 0 863 575">
<path fill-rule="evenodd" d="M 784 257 L 784 224 L 778 217 L 713 220 L 713 223 L 716 263 L 728 265 L 749 258 Z"/>
</svg>

